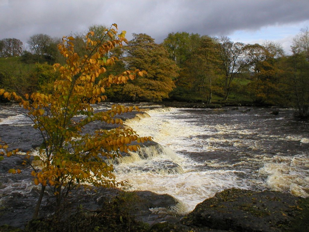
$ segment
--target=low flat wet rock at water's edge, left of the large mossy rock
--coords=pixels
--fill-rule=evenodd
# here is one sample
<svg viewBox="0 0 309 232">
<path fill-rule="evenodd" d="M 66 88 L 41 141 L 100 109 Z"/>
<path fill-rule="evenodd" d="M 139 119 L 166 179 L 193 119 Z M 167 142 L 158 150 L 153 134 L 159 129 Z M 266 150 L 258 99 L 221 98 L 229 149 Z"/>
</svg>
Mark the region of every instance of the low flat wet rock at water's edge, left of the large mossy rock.
<svg viewBox="0 0 309 232">
<path fill-rule="evenodd" d="M 149 225 L 169 221 L 177 223 L 183 215 L 178 212 L 180 202 L 171 195 L 157 194 L 151 191 L 121 191 L 117 188 L 96 188 L 96 191 L 88 191 L 87 197 L 81 198 L 78 204 L 82 204 L 91 211 L 100 211 L 106 205 L 115 203 L 114 211 L 118 207 L 129 213 L 135 220 Z"/>
</svg>

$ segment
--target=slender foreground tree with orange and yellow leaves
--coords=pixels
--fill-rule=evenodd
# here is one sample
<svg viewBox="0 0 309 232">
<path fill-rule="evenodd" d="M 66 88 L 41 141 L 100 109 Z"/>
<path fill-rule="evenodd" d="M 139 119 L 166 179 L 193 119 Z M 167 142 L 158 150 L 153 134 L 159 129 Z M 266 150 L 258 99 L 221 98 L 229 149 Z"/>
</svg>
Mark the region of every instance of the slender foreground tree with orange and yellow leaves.
<svg viewBox="0 0 309 232">
<path fill-rule="evenodd" d="M 47 186 L 52 188 L 57 209 L 70 190 L 80 184 L 121 185 L 115 180 L 108 159 L 120 156 L 120 152 L 137 150 L 137 143 L 151 139 L 139 137 L 132 129 L 121 127 L 123 121 L 116 115 L 132 111 L 133 107 L 113 105 L 110 110 L 102 112 L 95 112 L 92 107 L 92 104 L 106 99 L 105 87 L 126 83 L 128 79 L 145 73 L 128 70 L 117 76 L 100 78 L 100 74 L 106 71 L 105 67 L 116 59 L 108 57 L 108 53 L 127 41 L 125 31 L 118 34 L 116 30 L 117 25 L 113 24 L 103 36 L 96 37 L 94 32 L 89 32 L 85 39 L 87 55 L 82 57 L 74 52 L 74 37 L 63 37 L 58 49 L 66 63 L 54 65 L 60 77 L 54 83 L 53 94 L 35 92 L 31 96 L 18 96 L 15 92 L 0 89 L 0 96 L 19 102 L 24 108 L 21 112 L 32 119 L 34 128 L 42 136 L 34 162 L 30 162 L 29 153 L 23 156 L 24 164 L 33 168 L 34 183 L 41 186 L 33 218 L 38 216 Z M 86 133 L 84 127 L 95 121 L 120 126 Z M 20 156 L 18 149 L 9 151 L 3 143 L 0 148 L 5 150 L 7 157 Z M 20 170 L 10 169 L 9 172 L 19 173 Z"/>
</svg>

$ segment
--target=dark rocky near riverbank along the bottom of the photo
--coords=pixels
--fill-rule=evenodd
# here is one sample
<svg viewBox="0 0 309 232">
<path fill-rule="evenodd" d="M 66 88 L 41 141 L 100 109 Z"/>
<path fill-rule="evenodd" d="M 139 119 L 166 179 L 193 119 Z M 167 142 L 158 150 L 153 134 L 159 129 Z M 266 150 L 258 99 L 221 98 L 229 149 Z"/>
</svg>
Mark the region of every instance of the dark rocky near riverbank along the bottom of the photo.
<svg viewBox="0 0 309 232">
<path fill-rule="evenodd" d="M 66 208 L 58 219 L 49 216 L 31 221 L 25 229 L 1 226 L 0 231 L 305 232 L 309 228 L 309 198 L 276 191 L 227 189 L 187 215 L 177 213 L 179 202 L 172 196 L 150 191 L 101 189 L 79 203 L 87 209 Z"/>
</svg>

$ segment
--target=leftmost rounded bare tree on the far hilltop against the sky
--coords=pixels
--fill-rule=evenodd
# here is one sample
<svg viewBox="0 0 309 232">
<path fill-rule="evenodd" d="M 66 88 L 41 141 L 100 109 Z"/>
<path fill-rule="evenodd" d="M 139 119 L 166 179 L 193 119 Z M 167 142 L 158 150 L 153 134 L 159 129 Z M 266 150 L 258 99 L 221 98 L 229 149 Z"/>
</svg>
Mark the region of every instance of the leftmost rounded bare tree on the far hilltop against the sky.
<svg viewBox="0 0 309 232">
<path fill-rule="evenodd" d="M 23 42 L 15 38 L 6 38 L 0 40 L 0 56 L 14 57 L 23 53 Z"/>
</svg>

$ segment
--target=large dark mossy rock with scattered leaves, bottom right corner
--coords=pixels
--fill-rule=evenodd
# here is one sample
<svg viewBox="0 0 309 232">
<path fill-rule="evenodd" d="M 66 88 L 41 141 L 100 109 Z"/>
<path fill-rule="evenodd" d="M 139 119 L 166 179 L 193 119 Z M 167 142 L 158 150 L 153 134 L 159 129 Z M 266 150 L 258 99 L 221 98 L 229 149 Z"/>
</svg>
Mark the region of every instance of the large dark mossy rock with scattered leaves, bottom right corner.
<svg viewBox="0 0 309 232">
<path fill-rule="evenodd" d="M 213 230 L 298 231 L 295 224 L 308 226 L 306 219 L 295 223 L 301 203 L 301 198 L 287 193 L 228 189 L 198 204 L 182 224 Z"/>
</svg>

